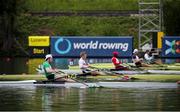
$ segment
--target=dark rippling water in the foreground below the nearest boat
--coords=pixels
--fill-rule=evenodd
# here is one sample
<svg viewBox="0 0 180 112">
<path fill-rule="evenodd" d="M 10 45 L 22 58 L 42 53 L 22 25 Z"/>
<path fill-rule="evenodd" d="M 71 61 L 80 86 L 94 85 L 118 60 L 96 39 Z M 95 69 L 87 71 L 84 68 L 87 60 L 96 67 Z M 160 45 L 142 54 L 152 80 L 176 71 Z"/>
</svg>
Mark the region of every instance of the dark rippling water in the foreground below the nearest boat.
<svg viewBox="0 0 180 112">
<path fill-rule="evenodd" d="M 180 88 L 0 86 L 0 110 L 180 110 Z"/>
</svg>

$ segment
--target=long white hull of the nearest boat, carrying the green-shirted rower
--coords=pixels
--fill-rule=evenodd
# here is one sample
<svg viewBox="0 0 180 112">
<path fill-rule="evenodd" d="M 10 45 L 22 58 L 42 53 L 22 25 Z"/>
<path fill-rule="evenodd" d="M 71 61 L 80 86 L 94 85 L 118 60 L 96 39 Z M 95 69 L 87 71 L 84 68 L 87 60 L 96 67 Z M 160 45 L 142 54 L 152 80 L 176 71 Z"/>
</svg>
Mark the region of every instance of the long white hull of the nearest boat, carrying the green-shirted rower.
<svg viewBox="0 0 180 112">
<path fill-rule="evenodd" d="M 177 83 L 163 83 L 163 82 L 92 82 L 92 83 L 70 83 L 62 81 L 53 82 L 38 82 L 35 80 L 25 80 L 25 81 L 1 81 L 0 86 L 25 86 L 25 85 L 35 85 L 35 86 L 56 86 L 56 87 L 75 87 L 75 88 L 88 88 L 88 87 L 107 87 L 107 88 L 178 88 Z"/>
</svg>

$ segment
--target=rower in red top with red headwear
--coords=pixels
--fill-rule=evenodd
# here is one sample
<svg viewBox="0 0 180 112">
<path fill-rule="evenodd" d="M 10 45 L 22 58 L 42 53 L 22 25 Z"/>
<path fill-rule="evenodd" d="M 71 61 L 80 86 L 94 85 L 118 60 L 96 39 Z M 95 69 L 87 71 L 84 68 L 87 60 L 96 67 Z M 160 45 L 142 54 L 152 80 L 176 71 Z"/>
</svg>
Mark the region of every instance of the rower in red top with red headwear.
<svg viewBox="0 0 180 112">
<path fill-rule="evenodd" d="M 117 57 L 118 57 L 118 52 L 113 52 L 113 57 L 111 61 L 114 64 L 115 70 L 128 70 L 127 67 L 121 65 L 122 63 L 118 60 Z"/>
</svg>

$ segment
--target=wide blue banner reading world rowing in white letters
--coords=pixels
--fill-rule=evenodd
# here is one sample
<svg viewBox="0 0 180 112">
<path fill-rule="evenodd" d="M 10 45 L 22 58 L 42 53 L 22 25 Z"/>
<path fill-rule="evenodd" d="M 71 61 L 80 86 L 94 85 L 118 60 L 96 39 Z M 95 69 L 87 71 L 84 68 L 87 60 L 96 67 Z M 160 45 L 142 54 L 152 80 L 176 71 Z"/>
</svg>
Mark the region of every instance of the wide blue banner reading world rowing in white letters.
<svg viewBox="0 0 180 112">
<path fill-rule="evenodd" d="M 82 51 L 86 51 L 88 57 L 112 57 L 114 51 L 118 51 L 120 57 L 131 57 L 132 47 L 130 36 L 52 36 L 50 51 L 57 57 L 79 57 Z"/>
</svg>

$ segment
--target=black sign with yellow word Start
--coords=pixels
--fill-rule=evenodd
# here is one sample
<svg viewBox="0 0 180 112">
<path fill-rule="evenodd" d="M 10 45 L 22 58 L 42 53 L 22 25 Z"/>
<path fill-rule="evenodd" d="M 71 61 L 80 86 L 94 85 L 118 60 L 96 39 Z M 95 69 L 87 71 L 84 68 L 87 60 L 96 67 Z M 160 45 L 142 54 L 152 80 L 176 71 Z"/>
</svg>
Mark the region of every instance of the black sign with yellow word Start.
<svg viewBox="0 0 180 112">
<path fill-rule="evenodd" d="M 32 57 L 44 57 L 49 54 L 49 47 L 30 47 L 29 54 Z"/>
</svg>

